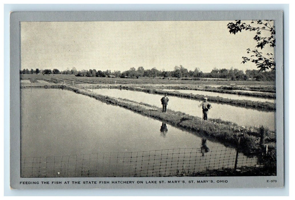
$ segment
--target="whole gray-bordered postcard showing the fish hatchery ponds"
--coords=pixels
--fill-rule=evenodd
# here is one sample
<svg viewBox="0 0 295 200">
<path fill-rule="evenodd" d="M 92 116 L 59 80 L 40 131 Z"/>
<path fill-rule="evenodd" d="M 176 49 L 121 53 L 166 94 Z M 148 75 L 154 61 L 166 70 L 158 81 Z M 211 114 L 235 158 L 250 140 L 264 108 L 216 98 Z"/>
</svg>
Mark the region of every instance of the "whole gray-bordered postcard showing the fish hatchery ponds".
<svg viewBox="0 0 295 200">
<path fill-rule="evenodd" d="M 12 12 L 10 186 L 284 186 L 283 13 Z"/>
</svg>

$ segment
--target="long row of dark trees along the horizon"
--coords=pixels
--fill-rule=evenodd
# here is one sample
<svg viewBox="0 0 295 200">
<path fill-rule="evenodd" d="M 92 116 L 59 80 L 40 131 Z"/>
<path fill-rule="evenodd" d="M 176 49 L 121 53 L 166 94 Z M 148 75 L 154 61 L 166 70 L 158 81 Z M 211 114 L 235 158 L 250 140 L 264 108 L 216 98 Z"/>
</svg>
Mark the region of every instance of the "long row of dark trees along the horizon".
<svg viewBox="0 0 295 200">
<path fill-rule="evenodd" d="M 275 80 L 275 71 L 259 71 L 259 70 L 242 70 L 230 68 L 230 69 L 217 69 L 213 68 L 211 72 L 204 73 L 200 71 L 199 68 L 195 68 L 194 71 L 184 68 L 182 65 L 175 66 L 173 71 L 158 70 L 156 68 L 144 69 L 142 66 L 135 69 L 134 67 L 130 68 L 127 71 L 101 71 L 96 69 L 81 70 L 77 71 L 76 68 L 71 70 L 67 69 L 65 71 L 59 71 L 58 69 L 44 69 L 39 70 L 28 70 L 23 69 L 19 71 L 20 74 L 67 74 L 75 76 L 85 76 L 85 77 L 120 77 L 120 78 L 139 78 L 139 77 L 162 77 L 167 79 L 169 77 L 174 77 L 177 79 L 193 79 L 199 80 L 200 78 L 224 78 L 233 81 L 246 81 L 251 79 L 256 79 L 257 81 L 274 81 Z"/>
</svg>

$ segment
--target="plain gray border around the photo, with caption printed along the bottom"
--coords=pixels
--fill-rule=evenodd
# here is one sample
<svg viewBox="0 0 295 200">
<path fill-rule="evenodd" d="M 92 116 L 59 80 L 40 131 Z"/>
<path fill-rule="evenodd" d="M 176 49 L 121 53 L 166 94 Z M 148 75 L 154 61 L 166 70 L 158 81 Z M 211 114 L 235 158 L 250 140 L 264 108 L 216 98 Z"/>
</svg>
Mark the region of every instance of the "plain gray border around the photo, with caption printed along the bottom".
<svg viewBox="0 0 295 200">
<path fill-rule="evenodd" d="M 11 29 L 10 29 L 10 170 L 11 170 L 11 187 L 20 189 L 47 189 L 47 188 L 217 188 L 217 187 L 282 187 L 283 186 L 283 13 L 281 11 L 224 11 L 224 12 L 12 12 L 10 15 Z M 138 20 L 251 20 L 251 19 L 274 19 L 276 20 L 276 131 L 277 131 L 277 163 L 278 170 L 277 176 L 268 177 L 165 177 L 165 180 L 228 180 L 230 184 L 224 185 L 168 185 L 168 184 L 155 184 L 155 185 L 96 185 L 89 187 L 87 185 L 19 185 L 19 181 L 29 180 L 28 178 L 20 177 L 20 138 L 19 138 L 19 67 L 20 67 L 20 48 L 19 48 L 19 21 L 138 21 Z M 18 67 L 17 67 L 18 66 Z M 279 166 L 280 165 L 280 166 Z M 276 184 L 266 184 L 267 179 L 277 179 Z M 30 178 L 30 181 L 46 181 L 55 180 L 56 178 Z M 66 181 L 83 180 L 91 181 L 96 180 L 163 180 L 160 178 L 60 178 Z M 247 184 L 245 184 L 247 183 Z M 91 185 L 93 186 L 93 185 Z M 198 186 L 198 187 L 196 187 Z"/>
</svg>

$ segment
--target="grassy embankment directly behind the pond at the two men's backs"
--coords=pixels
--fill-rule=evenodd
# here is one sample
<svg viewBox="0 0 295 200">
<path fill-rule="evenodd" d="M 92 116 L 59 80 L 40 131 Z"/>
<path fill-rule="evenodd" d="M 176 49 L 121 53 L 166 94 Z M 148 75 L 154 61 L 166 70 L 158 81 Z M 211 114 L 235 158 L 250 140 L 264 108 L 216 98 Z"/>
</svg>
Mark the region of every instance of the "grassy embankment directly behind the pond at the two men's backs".
<svg viewBox="0 0 295 200">
<path fill-rule="evenodd" d="M 120 88 L 116 86 L 114 88 Z M 125 90 L 132 90 L 132 91 L 140 91 L 145 93 L 152 93 L 152 94 L 167 94 L 168 96 L 178 96 L 186 99 L 196 99 L 203 101 L 204 97 L 207 97 L 211 102 L 218 102 L 222 104 L 230 104 L 235 106 L 253 108 L 258 110 L 266 110 L 266 111 L 273 111 L 276 110 L 276 106 L 274 103 L 270 102 L 260 102 L 260 101 L 250 101 L 250 100 L 238 100 L 238 99 L 226 99 L 219 96 L 204 96 L 200 94 L 186 94 L 180 92 L 173 92 L 173 91 L 164 91 L 158 89 L 148 89 L 148 88 L 140 88 L 140 87 L 132 87 L 132 86 L 122 86 L 122 89 Z"/>
</svg>

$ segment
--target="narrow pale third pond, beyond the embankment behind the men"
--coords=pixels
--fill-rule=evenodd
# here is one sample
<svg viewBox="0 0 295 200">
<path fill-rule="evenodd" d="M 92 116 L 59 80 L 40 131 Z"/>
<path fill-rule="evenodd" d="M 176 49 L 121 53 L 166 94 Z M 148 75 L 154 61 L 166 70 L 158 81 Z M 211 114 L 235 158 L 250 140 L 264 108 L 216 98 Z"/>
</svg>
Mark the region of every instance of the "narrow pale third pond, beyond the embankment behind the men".
<svg viewBox="0 0 295 200">
<path fill-rule="evenodd" d="M 266 99 L 266 98 L 260 98 L 255 96 L 242 96 L 237 94 L 226 94 L 226 93 L 219 93 L 219 92 L 209 92 L 209 91 L 200 91 L 200 90 L 173 90 L 173 89 L 163 89 L 164 91 L 176 91 L 180 93 L 186 93 L 186 94 L 200 94 L 205 96 L 219 96 L 222 98 L 227 99 L 238 99 L 238 100 L 250 100 L 250 101 L 262 101 L 262 102 L 271 102 L 274 103 L 274 99 Z M 245 92 L 245 91 L 244 91 Z"/>
</svg>

